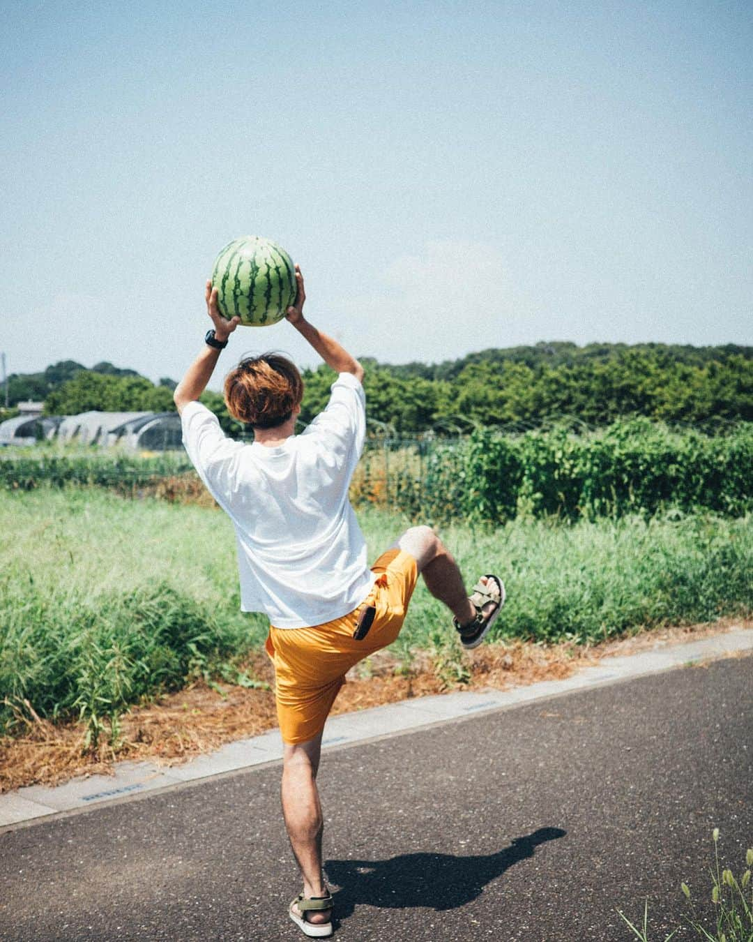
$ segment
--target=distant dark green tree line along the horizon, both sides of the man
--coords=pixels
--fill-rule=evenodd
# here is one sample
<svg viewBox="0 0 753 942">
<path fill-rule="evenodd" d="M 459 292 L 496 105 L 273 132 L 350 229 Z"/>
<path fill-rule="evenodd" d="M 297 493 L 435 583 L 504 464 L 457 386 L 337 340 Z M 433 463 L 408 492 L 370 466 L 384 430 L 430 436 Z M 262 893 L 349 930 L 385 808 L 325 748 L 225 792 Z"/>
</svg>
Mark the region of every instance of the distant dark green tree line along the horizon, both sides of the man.
<svg viewBox="0 0 753 942">
<path fill-rule="evenodd" d="M 712 426 L 753 420 L 753 348 L 664 344 L 537 344 L 489 349 L 441 364 L 379 364 L 364 358 L 367 412 L 401 435 L 457 432 L 474 426 L 537 428 L 567 417 L 604 426 L 643 415 L 669 423 Z M 304 371 L 301 419 L 327 404 L 334 374 L 327 366 Z M 88 410 L 174 409 L 175 382 L 153 383 L 109 363 L 91 369 L 74 361 L 8 379 L 11 404 L 43 399 L 46 414 Z M 229 432 L 243 430 L 221 394 L 202 401 Z"/>
</svg>

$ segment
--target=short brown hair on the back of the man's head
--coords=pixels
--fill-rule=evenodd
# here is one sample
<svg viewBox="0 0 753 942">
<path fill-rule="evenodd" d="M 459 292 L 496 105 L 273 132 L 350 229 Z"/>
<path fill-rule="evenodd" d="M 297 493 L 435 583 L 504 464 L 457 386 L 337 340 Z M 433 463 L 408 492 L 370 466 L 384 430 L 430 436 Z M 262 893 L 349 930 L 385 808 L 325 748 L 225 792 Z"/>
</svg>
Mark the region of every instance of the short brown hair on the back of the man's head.
<svg viewBox="0 0 753 942">
<path fill-rule="evenodd" d="M 256 429 L 287 422 L 302 398 L 298 368 L 280 353 L 244 357 L 225 377 L 228 412 Z"/>
</svg>

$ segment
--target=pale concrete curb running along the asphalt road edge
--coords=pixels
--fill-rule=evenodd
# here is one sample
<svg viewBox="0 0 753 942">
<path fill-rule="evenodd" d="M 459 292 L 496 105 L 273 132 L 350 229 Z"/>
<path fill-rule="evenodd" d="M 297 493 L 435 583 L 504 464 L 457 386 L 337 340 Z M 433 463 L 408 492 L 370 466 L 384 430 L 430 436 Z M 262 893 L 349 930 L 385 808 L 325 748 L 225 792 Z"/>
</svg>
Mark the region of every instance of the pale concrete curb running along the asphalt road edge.
<svg viewBox="0 0 753 942">
<path fill-rule="evenodd" d="M 488 713 L 549 699 L 575 690 L 614 684 L 657 674 L 689 663 L 728 658 L 753 652 L 753 629 L 731 628 L 696 642 L 680 642 L 638 654 L 602 658 L 565 680 L 546 680 L 512 690 L 462 691 L 419 697 L 385 707 L 343 713 L 328 720 L 322 745 L 332 749 L 370 739 L 462 720 L 472 713 Z M 239 739 L 183 766 L 160 769 L 152 762 L 120 762 L 114 775 L 74 778 L 56 788 L 35 785 L 0 795 L 0 834 L 20 824 L 113 804 L 164 788 L 176 788 L 215 775 L 280 761 L 279 730 Z"/>
</svg>

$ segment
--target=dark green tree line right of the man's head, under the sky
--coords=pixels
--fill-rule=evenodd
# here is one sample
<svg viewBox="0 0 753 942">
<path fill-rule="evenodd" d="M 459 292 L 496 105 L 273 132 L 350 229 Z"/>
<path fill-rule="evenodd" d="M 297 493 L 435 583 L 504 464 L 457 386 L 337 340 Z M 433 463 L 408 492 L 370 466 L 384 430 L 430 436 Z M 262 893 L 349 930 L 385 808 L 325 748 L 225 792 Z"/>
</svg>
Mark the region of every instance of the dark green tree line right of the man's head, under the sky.
<svg viewBox="0 0 753 942">
<path fill-rule="evenodd" d="M 661 344 L 489 349 L 441 365 L 366 364 L 371 419 L 402 435 L 473 424 L 524 430 L 568 416 L 590 426 L 643 415 L 709 428 L 753 420 L 750 348 Z M 301 416 L 327 403 L 333 374 L 307 370 Z"/>
</svg>

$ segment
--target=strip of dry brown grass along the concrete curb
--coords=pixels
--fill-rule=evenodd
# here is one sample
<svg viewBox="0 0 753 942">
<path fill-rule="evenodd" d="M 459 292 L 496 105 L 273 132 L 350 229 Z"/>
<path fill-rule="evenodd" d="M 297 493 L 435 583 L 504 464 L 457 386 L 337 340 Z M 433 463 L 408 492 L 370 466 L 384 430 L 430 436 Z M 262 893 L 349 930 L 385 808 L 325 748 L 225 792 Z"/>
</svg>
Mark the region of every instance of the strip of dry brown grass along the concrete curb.
<svg viewBox="0 0 753 942">
<path fill-rule="evenodd" d="M 456 689 L 504 690 L 539 680 L 560 679 L 607 655 L 632 654 L 667 643 L 697 640 L 741 624 L 753 626 L 753 622 L 726 620 L 713 625 L 647 631 L 594 646 L 571 642 L 488 644 L 463 652 L 462 662 L 470 679 L 467 684 L 456 685 Z M 246 667 L 249 674 L 267 681 L 271 687 L 274 676 L 264 654 L 250 658 Z M 384 651 L 348 675 L 333 713 L 396 703 L 448 689 L 429 654 L 422 655 L 409 672 L 401 672 L 390 652 Z M 150 759 L 161 765 L 176 765 L 225 742 L 256 736 L 277 725 L 271 690 L 247 690 L 227 684 L 220 685 L 220 690 L 196 684 L 167 694 L 149 706 L 134 707 L 122 719 L 117 753 L 103 744 L 95 755 L 83 753 L 82 725 L 54 725 L 27 707 L 23 716 L 19 711 L 23 735 L 0 738 L 0 791 L 33 784 L 57 785 L 74 775 L 106 774 L 122 759 Z"/>
</svg>

